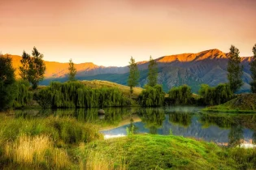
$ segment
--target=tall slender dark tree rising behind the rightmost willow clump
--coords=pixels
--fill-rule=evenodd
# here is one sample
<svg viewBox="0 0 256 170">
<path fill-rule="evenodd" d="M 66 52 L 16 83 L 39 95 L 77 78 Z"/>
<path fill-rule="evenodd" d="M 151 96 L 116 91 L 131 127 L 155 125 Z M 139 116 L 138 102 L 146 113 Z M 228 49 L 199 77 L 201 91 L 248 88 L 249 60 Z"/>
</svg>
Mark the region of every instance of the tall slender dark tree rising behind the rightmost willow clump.
<svg viewBox="0 0 256 170">
<path fill-rule="evenodd" d="M 243 66 L 241 66 L 239 53 L 239 49 L 231 45 L 228 55 L 228 83 L 232 92 L 236 92 L 243 85 Z"/>
</svg>

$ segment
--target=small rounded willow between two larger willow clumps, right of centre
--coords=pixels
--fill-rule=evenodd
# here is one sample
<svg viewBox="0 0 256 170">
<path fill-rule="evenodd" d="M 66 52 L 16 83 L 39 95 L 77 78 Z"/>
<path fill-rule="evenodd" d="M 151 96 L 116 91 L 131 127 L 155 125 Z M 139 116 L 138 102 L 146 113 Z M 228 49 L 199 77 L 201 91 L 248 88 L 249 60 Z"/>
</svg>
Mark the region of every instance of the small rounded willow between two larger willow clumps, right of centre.
<svg viewBox="0 0 256 170">
<path fill-rule="evenodd" d="M 191 104 L 192 91 L 188 85 L 173 87 L 168 94 L 171 104 Z"/>
</svg>

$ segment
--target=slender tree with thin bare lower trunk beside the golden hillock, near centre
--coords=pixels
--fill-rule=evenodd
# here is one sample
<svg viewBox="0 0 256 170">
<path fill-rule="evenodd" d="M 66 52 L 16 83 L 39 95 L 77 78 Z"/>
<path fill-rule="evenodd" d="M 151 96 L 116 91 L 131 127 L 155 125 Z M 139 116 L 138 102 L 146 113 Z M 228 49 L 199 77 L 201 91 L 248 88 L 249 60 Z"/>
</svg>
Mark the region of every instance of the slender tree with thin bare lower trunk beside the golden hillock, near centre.
<svg viewBox="0 0 256 170">
<path fill-rule="evenodd" d="M 132 96 L 133 87 L 136 87 L 137 84 L 139 83 L 138 81 L 140 78 L 140 72 L 138 70 L 137 63 L 135 62 L 134 58 L 131 57 L 129 64 L 130 64 L 130 66 L 128 66 L 128 67 L 130 69 L 130 74 L 128 77 L 128 86 L 130 87 L 130 93 Z"/>
</svg>

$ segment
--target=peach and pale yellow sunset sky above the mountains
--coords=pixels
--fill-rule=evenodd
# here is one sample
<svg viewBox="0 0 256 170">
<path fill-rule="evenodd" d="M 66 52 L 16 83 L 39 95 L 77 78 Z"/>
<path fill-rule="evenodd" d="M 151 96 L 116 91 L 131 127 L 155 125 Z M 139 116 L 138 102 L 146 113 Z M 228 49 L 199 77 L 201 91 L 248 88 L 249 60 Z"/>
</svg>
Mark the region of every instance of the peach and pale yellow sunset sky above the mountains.
<svg viewBox="0 0 256 170">
<path fill-rule="evenodd" d="M 46 61 L 127 66 L 256 43 L 256 0 L 0 0 L 0 52 L 33 46 Z"/>
</svg>

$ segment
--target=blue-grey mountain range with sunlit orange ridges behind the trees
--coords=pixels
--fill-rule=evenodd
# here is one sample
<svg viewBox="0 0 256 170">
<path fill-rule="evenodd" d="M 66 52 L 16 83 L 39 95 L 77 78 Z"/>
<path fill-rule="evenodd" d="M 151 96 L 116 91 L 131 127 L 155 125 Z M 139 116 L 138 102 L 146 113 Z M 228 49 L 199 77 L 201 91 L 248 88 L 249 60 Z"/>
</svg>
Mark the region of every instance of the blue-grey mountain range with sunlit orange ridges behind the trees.
<svg viewBox="0 0 256 170">
<path fill-rule="evenodd" d="M 10 55 L 15 74 L 19 77 L 20 56 Z M 193 92 L 198 91 L 200 84 L 207 83 L 216 86 L 219 83 L 227 83 L 228 53 L 219 49 L 209 49 L 200 53 L 182 53 L 177 55 L 163 56 L 155 59 L 158 63 L 158 83 L 163 84 L 164 91 L 171 87 L 188 84 Z M 243 65 L 244 85 L 240 91 L 249 91 L 249 82 L 252 80 L 249 71 L 249 62 L 252 57 L 241 57 Z M 50 81 L 66 81 L 68 63 L 47 62 L 45 80 L 41 85 L 48 85 Z M 147 83 L 148 61 L 137 62 L 140 70 L 139 87 Z M 92 80 L 100 79 L 127 85 L 128 66 L 97 66 L 92 62 L 75 64 L 76 79 Z"/>
</svg>

